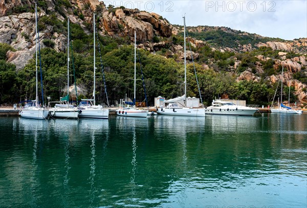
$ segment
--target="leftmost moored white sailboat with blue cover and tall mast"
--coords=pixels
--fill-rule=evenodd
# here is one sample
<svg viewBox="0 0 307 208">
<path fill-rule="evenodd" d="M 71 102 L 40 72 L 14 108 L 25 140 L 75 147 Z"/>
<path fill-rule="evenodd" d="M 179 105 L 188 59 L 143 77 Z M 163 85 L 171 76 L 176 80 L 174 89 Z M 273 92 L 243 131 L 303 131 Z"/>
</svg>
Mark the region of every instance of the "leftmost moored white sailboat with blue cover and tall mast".
<svg viewBox="0 0 307 208">
<path fill-rule="evenodd" d="M 38 81 L 37 81 L 37 47 L 39 44 L 39 33 L 37 30 L 37 7 L 35 4 L 35 67 L 36 67 L 36 94 L 35 100 L 28 102 L 23 109 L 20 110 L 19 115 L 29 119 L 46 119 L 48 117 L 48 110 L 45 107 L 38 105 Z M 41 93 L 42 94 L 42 93 Z M 43 98 L 43 94 L 42 94 Z"/>
</svg>

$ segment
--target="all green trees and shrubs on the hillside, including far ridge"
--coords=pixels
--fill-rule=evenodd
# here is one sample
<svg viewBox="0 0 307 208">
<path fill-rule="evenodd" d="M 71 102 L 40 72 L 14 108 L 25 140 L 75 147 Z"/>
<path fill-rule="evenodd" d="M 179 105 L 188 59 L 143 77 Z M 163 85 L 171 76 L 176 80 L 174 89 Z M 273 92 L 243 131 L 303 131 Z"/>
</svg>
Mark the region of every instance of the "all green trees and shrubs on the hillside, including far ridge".
<svg viewBox="0 0 307 208">
<path fill-rule="evenodd" d="M 69 8 L 70 2 L 67 0 L 56 1 L 56 12 L 51 13 L 47 9 L 45 1 L 38 1 L 41 9 L 45 10 L 48 16 L 42 16 L 38 25 L 41 30 L 48 25 L 53 26 L 53 32 L 67 36 L 67 22 L 61 21 L 56 17 L 59 13 L 63 17 L 64 8 Z M 89 7 L 89 5 L 85 5 Z M 99 9 L 99 7 L 98 7 Z M 113 8 L 109 8 L 113 9 Z M 20 6 L 11 12 L 33 12 L 33 6 Z M 73 13 L 83 19 L 82 13 L 73 10 Z M 99 17 L 97 17 L 99 18 Z M 84 22 L 90 29 L 91 26 Z M 93 35 L 87 35 L 77 24 L 71 24 L 72 48 L 71 54 L 71 83 L 76 81 L 77 85 L 87 89 L 81 98 L 91 98 L 93 91 Z M 23 34 L 21 34 L 23 35 Z M 24 34 L 25 35 L 25 34 Z M 165 47 L 157 51 L 156 54 L 148 51 L 138 50 L 137 79 L 141 79 L 141 68 L 145 77 L 145 86 L 149 104 L 153 105 L 155 97 L 163 96 L 172 98 L 183 95 L 184 65 L 177 54 L 172 54 L 169 50 L 171 45 L 183 45 L 183 35 L 173 35 L 170 38 L 155 36 L 153 42 L 164 41 Z M 201 96 L 206 106 L 211 104 L 215 98 L 231 98 L 246 100 L 247 104 L 267 105 L 271 104 L 275 93 L 276 83 L 272 85 L 266 77 L 280 73 L 281 68 L 274 68 L 275 59 L 279 59 L 277 51 L 270 48 L 259 48 L 252 52 L 233 53 L 212 50 L 214 47 L 238 48 L 239 45 L 271 40 L 282 41 L 280 39 L 263 38 L 257 35 L 243 35 L 242 32 L 226 32 L 223 30 L 209 30 L 200 33 L 189 33 L 189 36 L 196 39 L 205 40 L 208 44 L 201 48 L 191 50 L 199 54 L 195 59 L 195 69 L 200 84 Z M 25 37 L 28 38 L 29 37 Z M 110 104 L 127 97 L 133 98 L 133 78 L 134 75 L 134 48 L 128 38 L 116 38 L 98 35 L 102 67 L 98 48 L 96 48 L 96 99 L 98 103 L 106 103 L 104 94 L 104 83 L 102 70 L 105 73 L 108 100 Z M 42 41 L 45 48 L 41 49 L 42 80 L 44 86 L 44 99 L 51 96 L 52 100 L 59 100 L 65 96 L 67 86 L 67 53 L 56 52 L 53 48 L 55 43 L 45 38 Z M 189 48 L 188 48 L 189 49 Z M 29 61 L 25 68 L 16 70 L 15 65 L 6 62 L 7 51 L 14 51 L 10 45 L 0 43 L 0 104 L 17 103 L 24 99 L 35 99 L 35 57 Z M 73 52 L 73 53 L 72 53 Z M 257 55 L 263 55 L 266 60 L 259 60 Z M 295 53 L 287 54 L 287 58 L 298 56 Z M 168 58 L 165 58 L 168 57 Z M 72 61 L 73 60 L 73 61 Z M 238 67 L 234 67 L 236 61 L 240 61 Z M 74 65 L 73 65 L 74 64 Z M 257 71 L 257 65 L 261 64 L 263 72 Z M 207 65 L 208 69 L 204 69 Z M 73 72 L 75 68 L 75 72 Z M 236 77 L 249 70 L 260 77 L 259 82 L 236 81 Z M 305 70 L 305 68 L 302 68 Z M 73 76 L 75 73 L 75 76 Z M 294 78 L 307 83 L 306 74 L 303 72 L 295 73 Z M 76 80 L 75 80 L 76 79 Z M 194 67 L 192 63 L 187 65 L 187 96 L 199 97 L 198 87 L 195 81 Z M 40 86 L 40 85 L 39 85 Z M 288 92 L 289 88 L 284 88 Z M 40 90 L 39 90 L 40 91 Z M 286 94 L 286 93 L 285 93 Z M 145 98 L 142 82 L 137 82 L 137 100 L 143 101 Z M 294 102 L 294 89 L 291 88 L 291 101 Z"/>
</svg>

